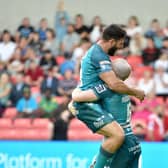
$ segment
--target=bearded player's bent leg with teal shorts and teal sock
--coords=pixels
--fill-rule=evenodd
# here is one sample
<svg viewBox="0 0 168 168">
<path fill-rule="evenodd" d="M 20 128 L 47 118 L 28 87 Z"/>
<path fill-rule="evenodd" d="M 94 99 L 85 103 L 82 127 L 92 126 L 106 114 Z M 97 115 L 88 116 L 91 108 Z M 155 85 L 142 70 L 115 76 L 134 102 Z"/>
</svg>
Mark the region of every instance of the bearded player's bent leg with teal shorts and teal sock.
<svg viewBox="0 0 168 168">
<path fill-rule="evenodd" d="M 103 168 L 107 160 L 121 146 L 124 141 L 124 131 L 114 121 L 111 114 L 105 112 L 99 104 L 75 104 L 77 118 L 83 121 L 93 132 L 108 137 L 103 141 L 97 156 L 96 168 Z"/>
</svg>

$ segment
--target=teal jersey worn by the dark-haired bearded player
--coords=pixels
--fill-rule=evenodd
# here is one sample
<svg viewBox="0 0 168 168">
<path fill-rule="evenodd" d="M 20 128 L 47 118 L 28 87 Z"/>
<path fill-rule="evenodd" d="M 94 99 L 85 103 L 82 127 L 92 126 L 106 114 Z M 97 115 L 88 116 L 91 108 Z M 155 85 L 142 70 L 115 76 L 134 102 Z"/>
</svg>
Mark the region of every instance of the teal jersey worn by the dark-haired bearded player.
<svg viewBox="0 0 168 168">
<path fill-rule="evenodd" d="M 97 84 L 103 84 L 100 73 L 112 70 L 109 56 L 102 48 L 93 45 L 81 61 L 80 88 L 86 90 Z"/>
</svg>

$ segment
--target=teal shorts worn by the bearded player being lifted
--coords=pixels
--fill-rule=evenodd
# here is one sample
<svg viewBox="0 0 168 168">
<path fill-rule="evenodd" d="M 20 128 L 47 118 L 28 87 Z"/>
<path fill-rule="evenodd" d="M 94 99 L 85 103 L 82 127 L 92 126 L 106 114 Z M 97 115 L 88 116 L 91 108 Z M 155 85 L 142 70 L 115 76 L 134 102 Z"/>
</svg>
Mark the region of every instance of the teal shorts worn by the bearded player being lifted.
<svg viewBox="0 0 168 168">
<path fill-rule="evenodd" d="M 94 103 L 74 103 L 77 110 L 77 118 L 84 122 L 92 132 L 97 132 L 103 126 L 114 121 L 112 114 L 101 108 L 97 102 Z"/>
</svg>

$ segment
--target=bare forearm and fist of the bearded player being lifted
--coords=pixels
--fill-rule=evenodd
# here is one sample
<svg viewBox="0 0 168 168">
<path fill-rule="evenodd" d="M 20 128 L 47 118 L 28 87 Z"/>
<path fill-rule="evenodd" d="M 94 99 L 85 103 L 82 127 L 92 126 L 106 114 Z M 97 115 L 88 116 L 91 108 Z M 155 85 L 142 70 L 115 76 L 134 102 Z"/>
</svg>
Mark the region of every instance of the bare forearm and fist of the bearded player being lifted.
<svg viewBox="0 0 168 168">
<path fill-rule="evenodd" d="M 117 78 L 112 70 L 99 74 L 100 78 L 108 85 L 108 87 L 118 93 L 135 96 L 140 100 L 144 99 L 144 92 L 138 89 L 130 88 L 122 80 Z"/>
</svg>

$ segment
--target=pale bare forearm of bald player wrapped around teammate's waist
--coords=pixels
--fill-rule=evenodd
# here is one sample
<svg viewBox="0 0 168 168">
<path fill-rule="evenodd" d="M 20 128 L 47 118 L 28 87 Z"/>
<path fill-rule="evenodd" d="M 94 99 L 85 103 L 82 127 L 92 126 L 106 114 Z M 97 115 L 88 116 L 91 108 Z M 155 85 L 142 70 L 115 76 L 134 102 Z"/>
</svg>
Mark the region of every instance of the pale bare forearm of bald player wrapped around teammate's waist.
<svg viewBox="0 0 168 168">
<path fill-rule="evenodd" d="M 72 92 L 72 100 L 75 102 L 92 102 L 97 99 L 98 98 L 92 89 L 82 91 L 79 88 L 76 88 Z"/>
</svg>

